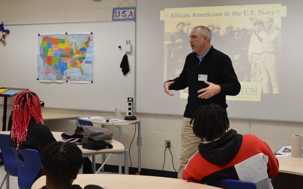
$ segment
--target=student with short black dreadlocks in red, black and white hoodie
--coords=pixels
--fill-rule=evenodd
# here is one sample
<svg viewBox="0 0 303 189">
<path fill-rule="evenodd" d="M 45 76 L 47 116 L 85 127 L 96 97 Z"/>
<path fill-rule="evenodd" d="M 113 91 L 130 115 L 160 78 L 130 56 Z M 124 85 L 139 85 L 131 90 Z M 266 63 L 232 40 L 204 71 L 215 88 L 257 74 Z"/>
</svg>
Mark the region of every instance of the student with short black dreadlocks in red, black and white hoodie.
<svg viewBox="0 0 303 189">
<path fill-rule="evenodd" d="M 193 132 L 206 142 L 191 157 L 183 179 L 204 184 L 207 181 L 234 179 L 251 181 L 258 189 L 271 189 L 279 163 L 269 146 L 254 135 L 238 134 L 229 128 L 226 110 L 219 105 L 204 105 L 195 112 Z M 228 132 L 226 132 L 228 130 Z"/>
</svg>

